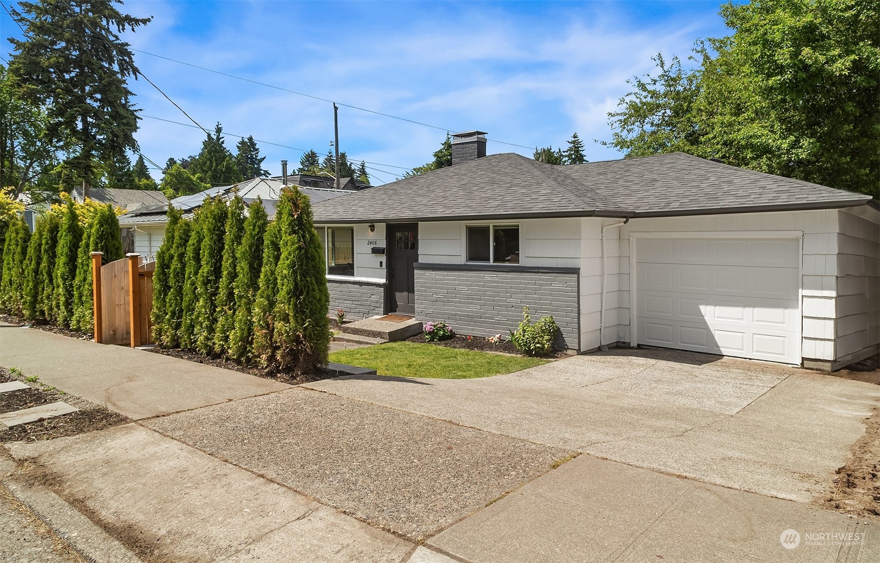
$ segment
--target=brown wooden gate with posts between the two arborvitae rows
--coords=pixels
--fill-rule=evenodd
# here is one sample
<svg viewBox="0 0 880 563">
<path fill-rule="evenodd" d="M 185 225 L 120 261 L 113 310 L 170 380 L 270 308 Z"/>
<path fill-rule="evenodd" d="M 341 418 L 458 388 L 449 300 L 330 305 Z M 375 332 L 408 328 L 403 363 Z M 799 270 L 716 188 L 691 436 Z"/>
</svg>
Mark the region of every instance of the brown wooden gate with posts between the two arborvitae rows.
<svg viewBox="0 0 880 563">
<path fill-rule="evenodd" d="M 101 266 L 103 252 L 92 252 L 92 298 L 95 342 L 131 347 L 152 344 L 150 310 L 156 262 L 143 264 L 140 254 L 126 254 Z"/>
</svg>

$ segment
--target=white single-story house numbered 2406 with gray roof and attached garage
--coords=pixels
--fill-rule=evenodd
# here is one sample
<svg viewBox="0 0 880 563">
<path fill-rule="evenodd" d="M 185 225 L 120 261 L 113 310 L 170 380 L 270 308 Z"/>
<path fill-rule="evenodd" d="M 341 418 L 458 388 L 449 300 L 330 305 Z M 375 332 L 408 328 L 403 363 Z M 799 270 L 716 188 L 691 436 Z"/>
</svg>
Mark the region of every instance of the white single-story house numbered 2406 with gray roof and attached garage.
<svg viewBox="0 0 880 563">
<path fill-rule="evenodd" d="M 839 369 L 880 351 L 880 207 L 682 153 L 453 165 L 321 201 L 331 311 L 458 333 L 553 315 L 578 352 L 650 345 Z"/>
</svg>

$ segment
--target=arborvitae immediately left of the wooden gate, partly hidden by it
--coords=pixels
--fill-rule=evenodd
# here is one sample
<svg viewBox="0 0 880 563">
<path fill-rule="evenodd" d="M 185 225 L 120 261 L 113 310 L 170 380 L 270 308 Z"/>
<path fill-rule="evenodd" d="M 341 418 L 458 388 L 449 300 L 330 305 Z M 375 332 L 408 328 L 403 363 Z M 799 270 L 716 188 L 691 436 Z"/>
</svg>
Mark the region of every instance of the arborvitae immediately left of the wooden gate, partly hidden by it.
<svg viewBox="0 0 880 563">
<path fill-rule="evenodd" d="M 113 205 L 107 203 L 92 217 L 83 235 L 77 260 L 77 285 L 74 290 L 74 317 L 71 328 L 89 333 L 94 326 L 94 302 L 92 299 L 92 252 L 104 252 L 101 265 L 122 260 L 122 238 L 119 218 Z"/>
</svg>

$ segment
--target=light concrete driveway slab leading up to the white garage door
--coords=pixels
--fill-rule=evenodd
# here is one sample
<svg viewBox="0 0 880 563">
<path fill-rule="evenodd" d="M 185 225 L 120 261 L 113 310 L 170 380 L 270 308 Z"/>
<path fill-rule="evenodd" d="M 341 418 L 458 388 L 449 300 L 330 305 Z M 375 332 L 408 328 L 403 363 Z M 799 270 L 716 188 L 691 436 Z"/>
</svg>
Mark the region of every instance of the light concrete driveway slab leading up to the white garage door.
<svg viewBox="0 0 880 563">
<path fill-rule="evenodd" d="M 340 377 L 312 389 L 744 491 L 824 495 L 880 386 L 665 350 L 579 355 L 507 376 Z"/>
</svg>

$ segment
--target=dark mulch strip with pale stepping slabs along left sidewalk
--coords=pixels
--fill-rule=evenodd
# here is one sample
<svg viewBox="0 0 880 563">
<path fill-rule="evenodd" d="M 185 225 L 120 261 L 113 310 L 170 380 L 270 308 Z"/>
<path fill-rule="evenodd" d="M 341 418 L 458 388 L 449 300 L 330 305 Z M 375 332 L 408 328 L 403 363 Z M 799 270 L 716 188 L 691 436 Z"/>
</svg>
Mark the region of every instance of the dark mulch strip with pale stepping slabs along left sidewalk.
<svg viewBox="0 0 880 563">
<path fill-rule="evenodd" d="M 131 420 L 127 416 L 95 405 L 84 398 L 68 395 L 39 383 L 26 382 L 24 376 L 12 374 L 8 369 L 0 368 L 0 383 L 21 381 L 31 385 L 30 389 L 0 393 L 0 413 L 10 413 L 32 406 L 46 405 L 63 401 L 76 406 L 76 413 L 62 414 L 53 418 L 35 420 L 12 428 L 0 425 L 0 442 L 37 442 L 51 440 L 62 436 L 72 436 L 125 424 Z"/>
</svg>

